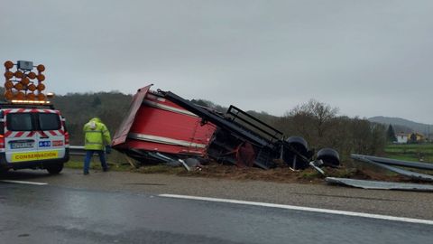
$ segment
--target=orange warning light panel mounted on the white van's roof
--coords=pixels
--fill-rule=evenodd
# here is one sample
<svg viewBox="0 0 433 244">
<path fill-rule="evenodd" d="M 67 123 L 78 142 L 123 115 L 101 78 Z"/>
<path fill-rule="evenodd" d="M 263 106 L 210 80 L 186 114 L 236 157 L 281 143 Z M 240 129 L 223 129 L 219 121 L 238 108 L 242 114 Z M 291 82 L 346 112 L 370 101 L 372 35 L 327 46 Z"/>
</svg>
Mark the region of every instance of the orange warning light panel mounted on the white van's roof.
<svg viewBox="0 0 433 244">
<path fill-rule="evenodd" d="M 44 70 L 43 64 L 33 66 L 32 61 L 17 61 L 16 64 L 5 61 L 5 99 L 12 103 L 49 104 L 47 98 L 52 98 L 52 93 L 47 96 L 43 92 Z"/>
</svg>

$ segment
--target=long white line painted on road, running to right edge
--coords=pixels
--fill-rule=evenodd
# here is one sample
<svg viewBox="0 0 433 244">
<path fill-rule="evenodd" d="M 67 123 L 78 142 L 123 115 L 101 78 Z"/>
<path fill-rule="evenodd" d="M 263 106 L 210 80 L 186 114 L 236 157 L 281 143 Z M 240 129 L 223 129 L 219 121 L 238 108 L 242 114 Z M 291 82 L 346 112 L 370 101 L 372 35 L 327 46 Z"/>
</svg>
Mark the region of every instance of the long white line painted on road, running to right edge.
<svg viewBox="0 0 433 244">
<path fill-rule="evenodd" d="M 314 212 L 321 212 L 321 213 L 339 214 L 339 215 L 363 217 L 363 218 L 385 220 L 385 221 L 401 221 L 401 222 L 433 225 L 433 221 L 428 221 L 428 220 L 410 219 L 404 217 L 395 217 L 389 215 L 372 214 L 372 213 L 355 212 L 355 211 L 336 211 L 336 210 L 300 207 L 300 206 L 293 206 L 293 205 L 274 204 L 274 203 L 267 203 L 267 202 L 249 202 L 249 201 L 240 201 L 240 200 L 232 200 L 232 199 L 186 196 L 186 195 L 175 195 L 175 194 L 160 194 L 159 196 L 168 197 L 168 198 L 208 201 L 208 202 L 227 202 L 227 203 L 234 203 L 234 204 L 253 205 L 253 206 L 279 208 L 279 209 L 296 210 L 296 211 L 314 211 Z"/>
</svg>

